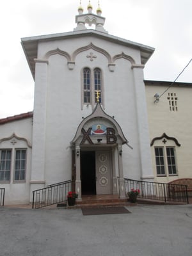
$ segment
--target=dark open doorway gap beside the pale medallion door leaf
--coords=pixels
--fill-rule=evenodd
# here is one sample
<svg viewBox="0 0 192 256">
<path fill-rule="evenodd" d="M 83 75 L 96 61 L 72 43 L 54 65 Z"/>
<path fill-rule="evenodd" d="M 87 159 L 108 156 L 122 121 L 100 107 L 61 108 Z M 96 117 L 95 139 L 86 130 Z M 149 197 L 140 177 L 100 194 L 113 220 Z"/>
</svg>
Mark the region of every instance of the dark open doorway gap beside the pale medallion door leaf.
<svg viewBox="0 0 192 256">
<path fill-rule="evenodd" d="M 82 195 L 96 195 L 95 152 L 81 152 Z"/>
</svg>

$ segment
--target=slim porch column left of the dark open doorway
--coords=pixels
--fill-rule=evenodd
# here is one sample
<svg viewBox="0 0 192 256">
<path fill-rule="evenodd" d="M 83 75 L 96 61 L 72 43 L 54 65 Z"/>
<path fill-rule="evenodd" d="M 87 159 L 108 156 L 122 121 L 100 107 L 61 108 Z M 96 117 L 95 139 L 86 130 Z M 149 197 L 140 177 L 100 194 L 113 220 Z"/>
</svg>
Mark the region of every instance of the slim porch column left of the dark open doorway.
<svg viewBox="0 0 192 256">
<path fill-rule="evenodd" d="M 80 163 L 80 147 L 76 146 L 76 193 L 78 194 L 77 201 L 81 201 L 81 163 Z"/>
</svg>

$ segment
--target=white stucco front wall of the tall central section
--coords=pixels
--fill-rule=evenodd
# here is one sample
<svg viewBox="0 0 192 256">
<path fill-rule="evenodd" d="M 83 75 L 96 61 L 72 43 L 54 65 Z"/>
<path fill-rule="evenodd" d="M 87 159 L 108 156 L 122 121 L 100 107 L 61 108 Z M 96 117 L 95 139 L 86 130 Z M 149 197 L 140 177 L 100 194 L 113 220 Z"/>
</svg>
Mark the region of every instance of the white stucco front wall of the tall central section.
<svg viewBox="0 0 192 256">
<path fill-rule="evenodd" d="M 53 54 L 45 60 L 47 52 L 60 49 L 68 54 L 75 52 L 89 44 L 98 49 L 84 49 L 74 59 L 74 69 L 69 70 L 67 58 L 62 54 Z M 35 107 L 34 107 L 34 132 L 33 132 L 33 164 L 32 180 L 38 180 L 39 186 L 53 184 L 71 178 L 71 152 L 70 141 L 74 138 L 77 126 L 82 117 L 90 115 L 92 106 L 83 106 L 81 109 L 81 70 L 84 67 L 91 69 L 99 67 L 102 70 L 104 83 L 103 106 L 108 115 L 115 116 L 116 121 L 122 127 L 125 137 L 131 148 L 124 146 L 124 176 L 132 179 L 140 179 L 142 172 L 151 175 L 150 150 L 146 149 L 147 157 L 142 162 L 140 145 L 141 140 L 147 137 L 148 127 L 144 132 L 138 131 L 138 122 L 143 118 L 147 124 L 146 106 L 141 106 L 138 111 L 136 99 L 145 99 L 145 86 L 143 83 L 143 69 L 140 75 L 134 74 L 132 63 L 125 58 L 115 60 L 115 71 L 109 70 L 108 58 L 104 54 L 108 52 L 111 58 L 117 54 L 131 56 L 136 64 L 140 65 L 140 51 L 125 47 L 125 45 L 106 42 L 100 38 L 83 36 L 67 38 L 51 42 L 41 42 L 38 47 L 38 59 L 36 63 Z M 97 58 L 90 61 L 87 55 L 93 52 Z M 43 73 L 43 74 L 42 74 Z M 136 77 L 138 76 L 138 77 Z M 141 82 L 140 82 L 141 81 Z M 140 95 L 136 84 L 140 84 Z M 143 134 L 143 135 L 142 135 Z M 143 136 L 143 138 L 141 138 Z M 38 138 L 38 140 L 36 139 Z M 143 144 L 142 144 L 143 145 Z M 42 151 L 45 148 L 44 156 Z M 142 169 L 143 168 L 143 169 Z M 142 170 L 141 170 L 142 169 Z M 44 175 L 40 175 L 44 172 Z M 146 175 L 146 173 L 144 173 Z M 33 186 L 34 188 L 34 186 Z"/>
</svg>

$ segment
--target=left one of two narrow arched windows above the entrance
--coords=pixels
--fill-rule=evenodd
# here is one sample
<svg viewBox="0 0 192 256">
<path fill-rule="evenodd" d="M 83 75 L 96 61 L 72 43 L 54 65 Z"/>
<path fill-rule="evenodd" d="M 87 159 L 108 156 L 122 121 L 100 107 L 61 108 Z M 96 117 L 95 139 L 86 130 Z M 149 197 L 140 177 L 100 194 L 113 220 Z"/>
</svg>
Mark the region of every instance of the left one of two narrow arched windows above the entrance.
<svg viewBox="0 0 192 256">
<path fill-rule="evenodd" d="M 90 69 L 84 68 L 83 70 L 83 100 L 84 103 L 91 103 L 91 90 L 90 90 Z"/>
</svg>

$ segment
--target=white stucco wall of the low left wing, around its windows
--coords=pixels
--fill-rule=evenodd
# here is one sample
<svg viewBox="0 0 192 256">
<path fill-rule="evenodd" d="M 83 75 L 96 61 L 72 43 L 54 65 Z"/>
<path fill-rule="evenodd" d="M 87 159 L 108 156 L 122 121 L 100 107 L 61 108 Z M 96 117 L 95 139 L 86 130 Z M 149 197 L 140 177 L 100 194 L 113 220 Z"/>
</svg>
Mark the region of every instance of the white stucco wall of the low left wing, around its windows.
<svg viewBox="0 0 192 256">
<path fill-rule="evenodd" d="M 32 118 L 2 124 L 0 129 L 0 149 L 12 150 L 10 181 L 0 181 L 0 188 L 5 188 L 4 204 L 28 203 L 31 179 Z M 13 134 L 15 134 L 14 137 Z M 15 149 L 27 150 L 25 181 L 14 181 Z"/>
</svg>

